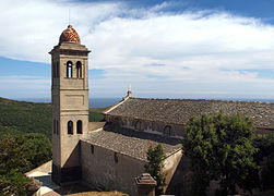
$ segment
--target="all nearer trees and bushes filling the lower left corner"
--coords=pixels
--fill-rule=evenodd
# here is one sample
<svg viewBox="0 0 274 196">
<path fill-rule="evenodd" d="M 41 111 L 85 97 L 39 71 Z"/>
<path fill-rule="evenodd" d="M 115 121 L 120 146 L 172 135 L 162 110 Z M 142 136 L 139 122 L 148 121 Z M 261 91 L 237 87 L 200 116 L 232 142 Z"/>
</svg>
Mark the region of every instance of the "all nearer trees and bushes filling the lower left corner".
<svg viewBox="0 0 274 196">
<path fill-rule="evenodd" d="M 25 172 L 51 159 L 51 143 L 43 134 L 0 139 L 0 195 L 28 195 L 32 181 Z"/>
</svg>

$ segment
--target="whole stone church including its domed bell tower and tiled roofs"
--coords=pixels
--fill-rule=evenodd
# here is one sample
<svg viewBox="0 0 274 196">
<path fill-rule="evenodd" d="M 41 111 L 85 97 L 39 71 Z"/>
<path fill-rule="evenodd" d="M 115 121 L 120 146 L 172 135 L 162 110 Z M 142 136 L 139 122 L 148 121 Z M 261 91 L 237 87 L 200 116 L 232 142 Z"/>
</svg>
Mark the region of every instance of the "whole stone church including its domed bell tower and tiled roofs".
<svg viewBox="0 0 274 196">
<path fill-rule="evenodd" d="M 69 25 L 51 54 L 52 180 L 82 181 L 93 187 L 138 195 L 135 177 L 144 172 L 146 151 L 164 148 L 166 193 L 180 195 L 188 181 L 181 150 L 191 117 L 223 111 L 250 117 L 258 132 L 274 131 L 274 105 L 252 101 L 145 99 L 128 95 L 88 122 L 88 53 Z"/>
</svg>

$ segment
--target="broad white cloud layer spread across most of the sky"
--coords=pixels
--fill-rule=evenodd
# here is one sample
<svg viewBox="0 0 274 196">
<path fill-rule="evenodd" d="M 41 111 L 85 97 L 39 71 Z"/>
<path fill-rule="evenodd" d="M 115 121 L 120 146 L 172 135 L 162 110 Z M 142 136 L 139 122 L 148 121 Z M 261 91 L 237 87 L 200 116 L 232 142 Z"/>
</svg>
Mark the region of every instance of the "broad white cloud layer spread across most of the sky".
<svg viewBox="0 0 274 196">
<path fill-rule="evenodd" d="M 150 88 L 144 83 L 153 79 L 160 86 L 175 86 L 174 90 L 188 84 L 193 95 L 219 95 L 224 90 L 216 83 L 221 83 L 234 85 L 235 90 L 227 90 L 231 94 L 250 88 L 247 95 L 273 96 L 269 91 L 274 88 L 274 78 L 263 78 L 254 71 L 274 69 L 272 25 L 224 11 L 168 11 L 174 5 L 164 2 L 134 9 L 123 2 L 1 2 L 0 25 L 4 28 L 0 32 L 0 56 L 49 63 L 47 52 L 58 44 L 71 8 L 71 23 L 92 50 L 90 69 L 104 70 L 104 81 L 93 84 L 96 89 L 132 83 L 140 91 L 168 91 L 168 86 Z M 211 89 L 201 89 L 205 88 L 201 82 Z M 260 85 L 264 91 L 251 90 Z"/>
</svg>

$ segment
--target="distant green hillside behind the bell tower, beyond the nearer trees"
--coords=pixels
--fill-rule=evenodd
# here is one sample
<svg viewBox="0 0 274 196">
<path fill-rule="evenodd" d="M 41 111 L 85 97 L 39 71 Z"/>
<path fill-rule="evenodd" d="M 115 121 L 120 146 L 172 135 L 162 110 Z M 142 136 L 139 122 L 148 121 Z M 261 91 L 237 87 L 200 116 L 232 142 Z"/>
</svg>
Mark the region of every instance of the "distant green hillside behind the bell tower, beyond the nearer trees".
<svg viewBox="0 0 274 196">
<path fill-rule="evenodd" d="M 90 110 L 90 121 L 103 120 L 105 108 Z M 51 138 L 51 105 L 15 101 L 0 97 L 0 136 L 43 133 Z"/>
</svg>

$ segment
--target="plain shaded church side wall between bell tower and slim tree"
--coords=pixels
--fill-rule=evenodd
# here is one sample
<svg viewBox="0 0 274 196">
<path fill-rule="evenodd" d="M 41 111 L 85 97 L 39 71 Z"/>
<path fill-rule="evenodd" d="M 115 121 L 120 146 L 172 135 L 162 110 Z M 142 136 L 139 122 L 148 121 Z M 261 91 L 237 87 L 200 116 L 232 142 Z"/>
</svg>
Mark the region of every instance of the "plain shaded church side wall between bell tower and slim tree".
<svg viewBox="0 0 274 196">
<path fill-rule="evenodd" d="M 144 161 L 81 140 L 82 177 L 96 187 L 138 195 L 135 177 Z"/>
</svg>

